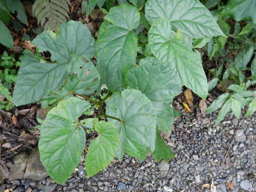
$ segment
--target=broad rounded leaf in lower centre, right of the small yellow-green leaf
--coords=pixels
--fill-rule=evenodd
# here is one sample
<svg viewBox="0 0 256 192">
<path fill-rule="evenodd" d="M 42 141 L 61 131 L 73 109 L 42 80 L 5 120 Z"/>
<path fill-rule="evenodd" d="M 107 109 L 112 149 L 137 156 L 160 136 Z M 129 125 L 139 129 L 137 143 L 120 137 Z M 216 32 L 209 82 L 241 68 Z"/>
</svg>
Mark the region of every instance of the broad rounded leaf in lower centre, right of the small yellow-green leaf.
<svg viewBox="0 0 256 192">
<path fill-rule="evenodd" d="M 114 93 L 108 101 L 106 114 L 121 119 L 122 122 L 108 118 L 119 129 L 119 148 L 116 156 L 124 153 L 140 160 L 147 151 L 154 151 L 156 121 L 151 101 L 138 90 L 124 90 Z"/>
</svg>

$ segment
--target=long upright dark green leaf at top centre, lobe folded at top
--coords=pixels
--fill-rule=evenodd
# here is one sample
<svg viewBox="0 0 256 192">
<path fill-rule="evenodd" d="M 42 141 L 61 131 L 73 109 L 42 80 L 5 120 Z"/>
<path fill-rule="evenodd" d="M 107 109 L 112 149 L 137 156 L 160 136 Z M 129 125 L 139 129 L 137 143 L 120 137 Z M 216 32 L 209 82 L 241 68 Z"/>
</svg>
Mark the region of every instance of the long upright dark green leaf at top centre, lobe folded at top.
<svg viewBox="0 0 256 192">
<path fill-rule="evenodd" d="M 127 71 L 135 66 L 138 38 L 133 29 L 139 27 L 140 14 L 134 6 L 121 4 L 105 19 L 109 23 L 102 23 L 95 45 L 97 65 L 109 90 L 122 91 Z"/>
</svg>

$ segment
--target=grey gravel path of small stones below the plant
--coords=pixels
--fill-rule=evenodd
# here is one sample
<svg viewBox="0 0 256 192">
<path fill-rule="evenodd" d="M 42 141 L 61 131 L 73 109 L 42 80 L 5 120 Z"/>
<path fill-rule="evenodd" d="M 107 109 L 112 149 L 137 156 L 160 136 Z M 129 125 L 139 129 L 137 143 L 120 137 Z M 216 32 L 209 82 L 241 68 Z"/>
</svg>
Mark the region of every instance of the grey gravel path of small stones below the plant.
<svg viewBox="0 0 256 192">
<path fill-rule="evenodd" d="M 197 122 L 196 114 L 191 113 L 177 119 L 168 142 L 176 158 L 168 163 L 154 162 L 150 156 L 143 162 L 125 156 L 122 162 L 113 162 L 104 171 L 86 179 L 81 162 L 63 185 L 46 178 L 14 180 L 5 187 L 17 192 L 25 188 L 28 192 L 256 191 L 256 114 L 239 121 L 228 116 L 225 122 L 214 127 L 216 117 L 213 113 Z M 204 184 L 212 182 L 212 189 L 205 188 L 210 185 Z"/>
</svg>

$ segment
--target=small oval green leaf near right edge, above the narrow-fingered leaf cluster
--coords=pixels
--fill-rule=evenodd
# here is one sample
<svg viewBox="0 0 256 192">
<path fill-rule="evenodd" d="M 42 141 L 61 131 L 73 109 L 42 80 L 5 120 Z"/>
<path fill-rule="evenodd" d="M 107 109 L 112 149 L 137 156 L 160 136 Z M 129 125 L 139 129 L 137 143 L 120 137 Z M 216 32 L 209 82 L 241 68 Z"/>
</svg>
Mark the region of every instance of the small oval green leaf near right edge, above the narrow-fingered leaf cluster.
<svg viewBox="0 0 256 192">
<path fill-rule="evenodd" d="M 253 46 L 250 46 L 249 49 L 247 50 L 239 51 L 238 54 L 236 55 L 234 66 L 239 70 L 244 69 L 247 66 L 247 64 L 250 62 L 252 55 L 253 55 Z"/>
</svg>

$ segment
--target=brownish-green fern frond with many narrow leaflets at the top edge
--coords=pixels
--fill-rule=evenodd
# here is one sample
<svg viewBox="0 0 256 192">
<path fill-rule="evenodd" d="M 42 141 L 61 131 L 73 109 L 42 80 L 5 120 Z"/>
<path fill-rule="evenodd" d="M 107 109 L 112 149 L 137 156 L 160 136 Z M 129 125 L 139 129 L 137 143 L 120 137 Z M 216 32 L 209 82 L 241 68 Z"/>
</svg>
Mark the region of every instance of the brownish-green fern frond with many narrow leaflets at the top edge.
<svg viewBox="0 0 256 192">
<path fill-rule="evenodd" d="M 37 0 L 32 11 L 43 30 L 56 31 L 69 19 L 69 6 L 69 0 Z"/>
</svg>

